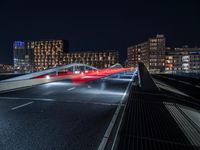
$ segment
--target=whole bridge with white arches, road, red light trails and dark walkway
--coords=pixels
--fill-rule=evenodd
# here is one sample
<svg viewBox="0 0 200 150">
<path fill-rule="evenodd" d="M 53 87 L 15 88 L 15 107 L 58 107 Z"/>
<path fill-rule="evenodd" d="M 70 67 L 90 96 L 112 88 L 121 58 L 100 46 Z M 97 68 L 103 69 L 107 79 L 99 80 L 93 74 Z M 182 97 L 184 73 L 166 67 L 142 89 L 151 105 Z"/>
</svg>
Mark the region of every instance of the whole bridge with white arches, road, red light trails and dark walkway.
<svg viewBox="0 0 200 150">
<path fill-rule="evenodd" d="M 199 87 L 142 63 L 76 63 L 2 80 L 0 147 L 198 149 Z"/>
</svg>

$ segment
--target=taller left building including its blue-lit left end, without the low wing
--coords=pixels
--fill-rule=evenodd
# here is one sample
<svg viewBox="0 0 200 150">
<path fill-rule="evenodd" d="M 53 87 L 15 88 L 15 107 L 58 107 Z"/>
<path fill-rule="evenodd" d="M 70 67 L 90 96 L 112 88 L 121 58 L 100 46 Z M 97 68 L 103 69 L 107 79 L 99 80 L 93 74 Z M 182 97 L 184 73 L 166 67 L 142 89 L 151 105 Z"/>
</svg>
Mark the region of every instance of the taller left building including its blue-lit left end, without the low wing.
<svg viewBox="0 0 200 150">
<path fill-rule="evenodd" d="M 65 40 L 15 41 L 14 69 L 33 72 L 63 65 L 63 53 L 67 50 Z"/>
</svg>

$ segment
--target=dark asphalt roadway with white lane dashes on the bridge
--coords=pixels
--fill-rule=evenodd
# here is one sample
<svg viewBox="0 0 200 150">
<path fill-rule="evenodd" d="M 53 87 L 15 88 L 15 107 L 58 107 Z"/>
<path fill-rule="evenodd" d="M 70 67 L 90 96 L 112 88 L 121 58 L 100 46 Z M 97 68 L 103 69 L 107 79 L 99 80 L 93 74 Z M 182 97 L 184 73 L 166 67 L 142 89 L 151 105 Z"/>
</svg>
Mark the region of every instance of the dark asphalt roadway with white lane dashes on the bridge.
<svg viewBox="0 0 200 150">
<path fill-rule="evenodd" d="M 63 80 L 0 94 L 0 149 L 97 149 L 128 83 Z"/>
</svg>

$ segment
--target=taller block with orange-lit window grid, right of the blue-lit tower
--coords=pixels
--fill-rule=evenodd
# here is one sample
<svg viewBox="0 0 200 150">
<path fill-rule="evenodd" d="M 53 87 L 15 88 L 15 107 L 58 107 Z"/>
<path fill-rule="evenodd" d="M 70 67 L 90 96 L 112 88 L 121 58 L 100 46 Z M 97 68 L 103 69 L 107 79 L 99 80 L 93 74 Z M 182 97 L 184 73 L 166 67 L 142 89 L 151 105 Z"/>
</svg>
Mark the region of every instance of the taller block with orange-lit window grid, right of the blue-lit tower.
<svg viewBox="0 0 200 150">
<path fill-rule="evenodd" d="M 68 43 L 64 40 L 27 42 L 27 48 L 34 50 L 34 70 L 44 70 L 63 65 L 63 54 Z"/>
</svg>

